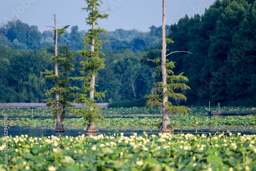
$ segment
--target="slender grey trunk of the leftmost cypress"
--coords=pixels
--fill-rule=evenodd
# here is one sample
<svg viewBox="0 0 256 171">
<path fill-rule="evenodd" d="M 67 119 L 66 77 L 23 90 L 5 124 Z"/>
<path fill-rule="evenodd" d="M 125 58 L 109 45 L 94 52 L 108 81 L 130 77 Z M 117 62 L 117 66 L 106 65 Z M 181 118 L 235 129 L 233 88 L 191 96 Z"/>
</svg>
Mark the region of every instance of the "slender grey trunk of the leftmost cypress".
<svg viewBox="0 0 256 171">
<path fill-rule="evenodd" d="M 55 51 L 55 87 L 58 87 L 58 29 L 57 29 L 57 21 L 56 21 L 56 15 L 54 14 L 54 33 L 55 33 L 55 44 L 54 44 L 54 51 Z M 60 105 L 59 105 L 59 92 L 56 91 L 56 129 L 55 132 L 64 132 L 64 129 L 61 125 L 61 116 L 60 116 Z"/>
</svg>

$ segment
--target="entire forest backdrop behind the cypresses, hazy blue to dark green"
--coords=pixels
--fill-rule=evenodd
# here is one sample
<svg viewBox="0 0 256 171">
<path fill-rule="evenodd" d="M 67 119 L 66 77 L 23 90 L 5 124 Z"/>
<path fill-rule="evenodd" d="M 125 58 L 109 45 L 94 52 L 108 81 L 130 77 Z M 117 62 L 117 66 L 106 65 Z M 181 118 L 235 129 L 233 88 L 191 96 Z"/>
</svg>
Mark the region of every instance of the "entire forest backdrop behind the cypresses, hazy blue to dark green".
<svg viewBox="0 0 256 171">
<path fill-rule="evenodd" d="M 168 10 L 168 8 L 167 8 Z M 161 19 L 161 18 L 159 18 Z M 168 23 L 167 23 L 168 24 Z M 188 77 L 191 91 L 185 105 L 255 105 L 256 102 L 256 2 L 252 0 L 216 1 L 203 15 L 185 16 L 167 26 L 167 46 L 175 53 L 174 72 Z M 161 27 L 149 32 L 123 30 L 102 35 L 109 42 L 103 45 L 105 69 L 97 77 L 98 91 L 107 90 L 99 102 L 143 105 L 153 83 L 160 80 L 155 63 L 146 59 L 161 56 Z M 77 26 L 59 35 L 58 45 L 69 46 L 74 53 L 74 76 L 80 76 L 77 50 L 83 49 L 86 31 Z M 0 28 L 0 102 L 40 102 L 45 90 L 52 86 L 40 74 L 52 70 L 54 40 L 51 31 L 41 33 L 36 26 L 20 20 Z M 168 53 L 167 53 L 168 54 Z M 82 82 L 74 81 L 73 86 Z"/>
</svg>

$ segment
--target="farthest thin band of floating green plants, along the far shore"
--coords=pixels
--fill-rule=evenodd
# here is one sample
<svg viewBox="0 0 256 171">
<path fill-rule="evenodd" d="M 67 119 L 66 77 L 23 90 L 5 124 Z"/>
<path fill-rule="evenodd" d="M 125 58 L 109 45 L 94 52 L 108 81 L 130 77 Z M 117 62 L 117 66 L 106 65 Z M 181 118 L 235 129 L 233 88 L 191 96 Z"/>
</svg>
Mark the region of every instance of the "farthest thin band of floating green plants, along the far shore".
<svg viewBox="0 0 256 171">
<path fill-rule="evenodd" d="M 208 116 L 207 106 L 188 106 L 190 111 L 187 116 Z M 70 108 L 67 109 L 67 114 L 70 117 L 81 117 L 76 114 L 70 113 Z M 217 107 L 211 107 L 211 110 L 217 110 Z M 233 107 L 233 106 L 223 106 L 221 108 L 223 111 L 255 111 L 255 107 Z M 102 116 L 104 117 L 161 117 L 160 111 L 158 109 L 146 109 L 146 108 L 100 108 Z M 44 109 L 0 109 L 0 113 L 8 114 L 11 118 L 21 118 L 21 117 L 49 117 L 52 118 L 51 110 L 48 108 Z M 186 116 L 184 114 L 177 114 L 175 116 Z"/>
</svg>

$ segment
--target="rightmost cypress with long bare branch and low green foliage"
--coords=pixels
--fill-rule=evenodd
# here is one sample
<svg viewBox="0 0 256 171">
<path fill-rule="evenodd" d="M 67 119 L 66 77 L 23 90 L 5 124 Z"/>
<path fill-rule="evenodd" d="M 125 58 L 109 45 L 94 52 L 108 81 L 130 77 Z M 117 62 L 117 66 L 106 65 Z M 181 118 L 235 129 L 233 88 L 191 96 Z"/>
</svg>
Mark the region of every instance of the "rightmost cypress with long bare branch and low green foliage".
<svg viewBox="0 0 256 171">
<path fill-rule="evenodd" d="M 176 104 L 179 104 L 181 100 L 186 100 L 183 93 L 190 88 L 185 84 L 185 82 L 188 81 L 188 78 L 183 76 L 183 73 L 174 75 L 173 69 L 175 68 L 175 63 L 166 59 L 166 56 L 168 55 L 185 51 L 176 51 L 166 54 L 166 44 L 173 43 L 174 41 L 170 38 L 166 38 L 165 4 L 166 0 L 163 0 L 162 54 L 161 58 L 154 60 L 158 64 L 158 70 L 162 75 L 162 81 L 156 82 L 152 89 L 152 94 L 145 96 L 145 98 L 147 98 L 146 106 L 148 108 L 158 107 L 163 113 L 160 131 L 174 132 L 172 125 L 170 124 L 169 115 L 176 113 L 186 114 L 189 109 L 186 106 L 175 105 L 171 100 L 175 101 Z"/>
</svg>

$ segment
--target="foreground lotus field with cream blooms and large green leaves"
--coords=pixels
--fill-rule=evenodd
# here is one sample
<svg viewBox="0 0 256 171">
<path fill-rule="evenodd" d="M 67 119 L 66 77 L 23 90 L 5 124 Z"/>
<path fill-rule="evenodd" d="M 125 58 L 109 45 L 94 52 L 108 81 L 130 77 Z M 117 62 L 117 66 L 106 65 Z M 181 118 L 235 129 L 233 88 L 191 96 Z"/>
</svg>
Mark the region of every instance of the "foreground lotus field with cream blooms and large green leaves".
<svg viewBox="0 0 256 171">
<path fill-rule="evenodd" d="M 240 133 L 10 136 L 8 167 L 2 145 L 0 170 L 255 170 L 255 142 Z"/>
</svg>

